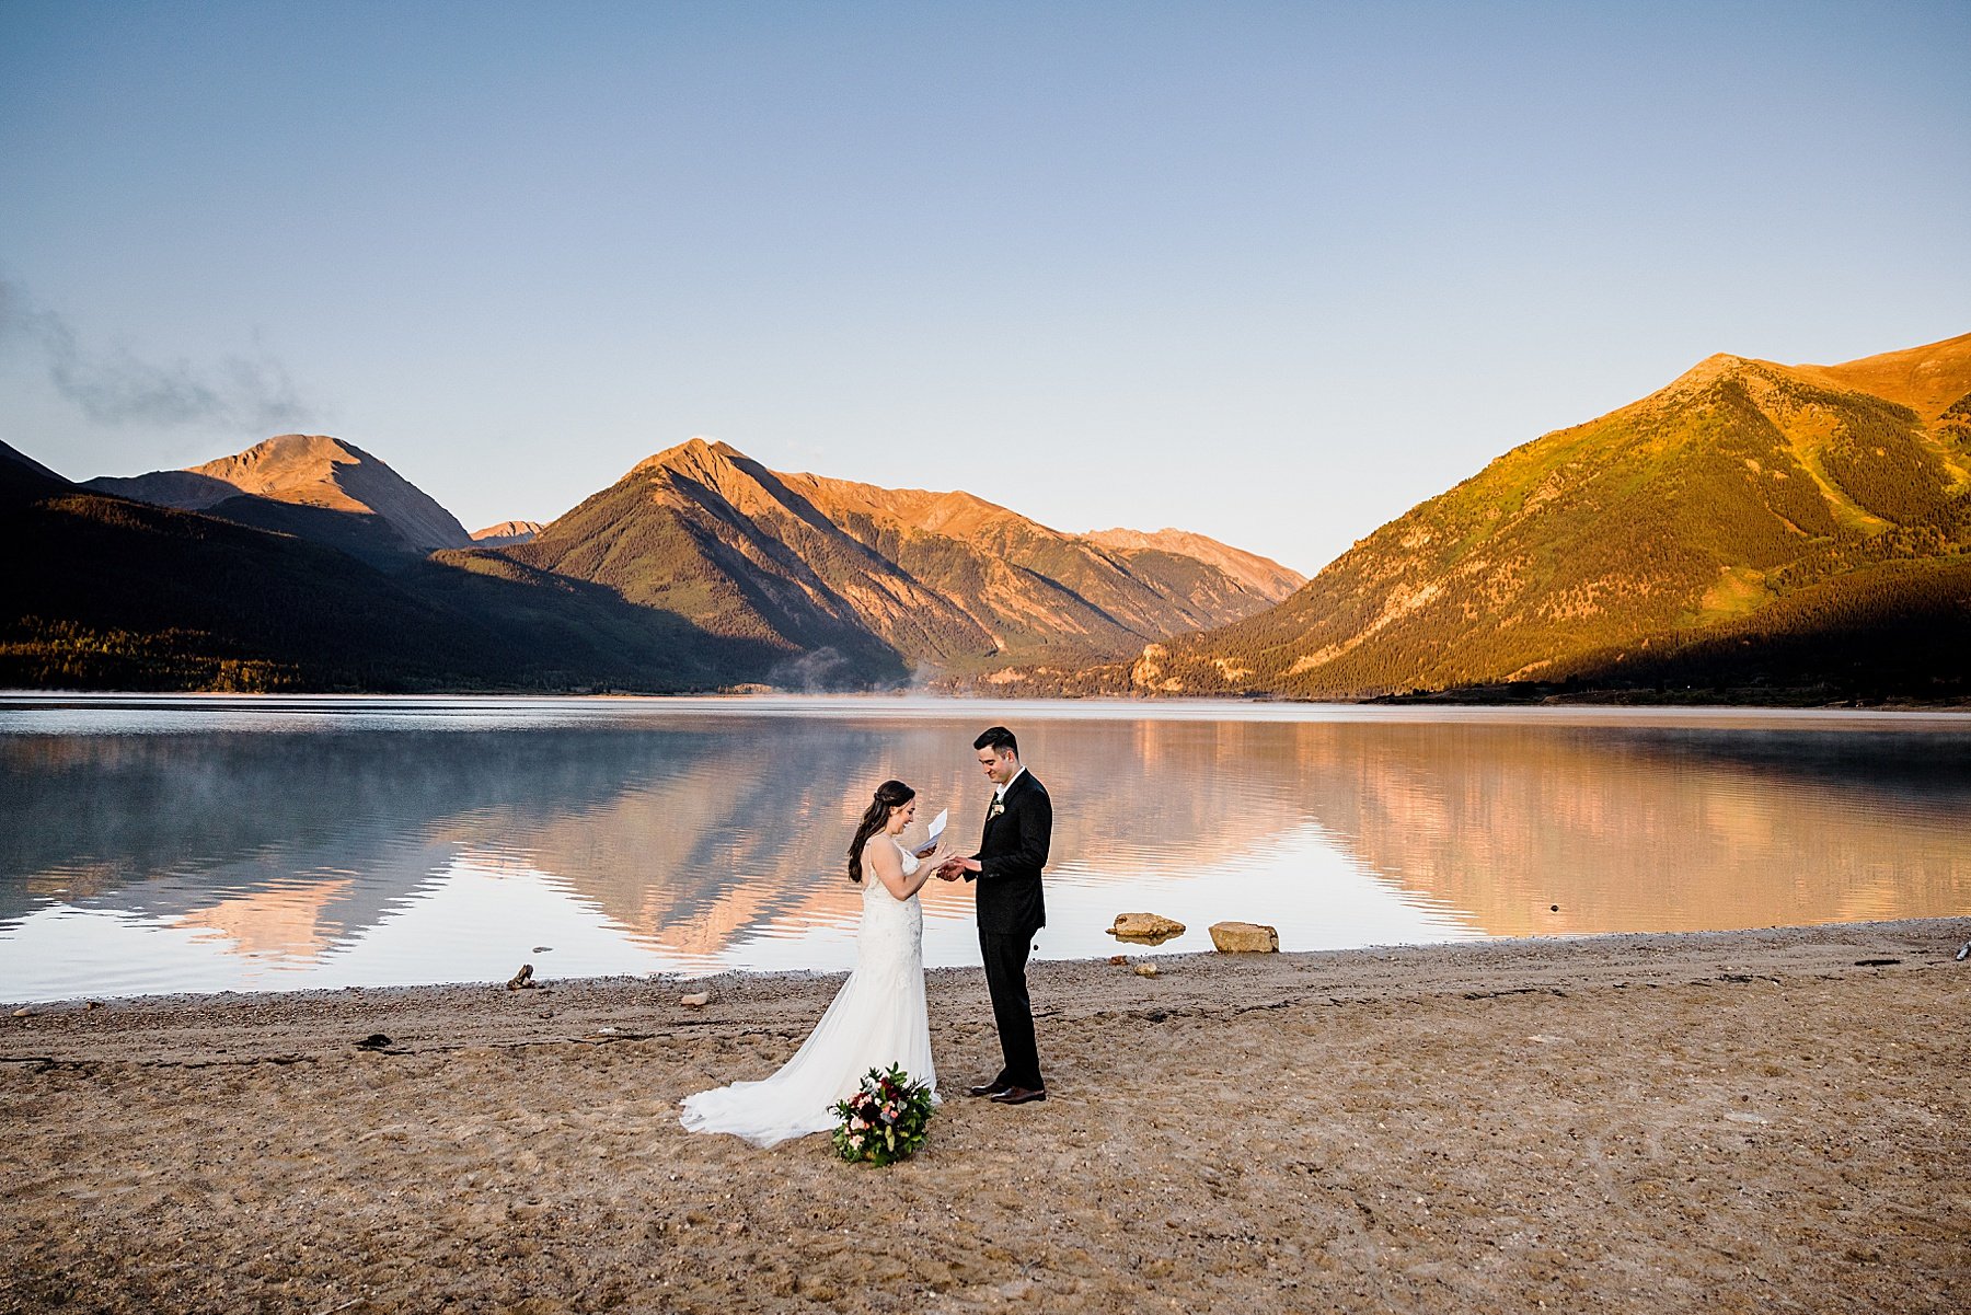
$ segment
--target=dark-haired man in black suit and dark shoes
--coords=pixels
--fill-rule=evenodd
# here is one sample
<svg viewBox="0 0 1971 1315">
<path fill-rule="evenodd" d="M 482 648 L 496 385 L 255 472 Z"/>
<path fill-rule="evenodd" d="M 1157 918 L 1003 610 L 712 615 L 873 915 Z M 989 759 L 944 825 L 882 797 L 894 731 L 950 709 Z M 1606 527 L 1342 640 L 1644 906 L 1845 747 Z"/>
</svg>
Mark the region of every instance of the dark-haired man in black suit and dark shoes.
<svg viewBox="0 0 1971 1315">
<path fill-rule="evenodd" d="M 986 810 L 986 834 L 972 858 L 946 860 L 938 875 L 946 881 L 978 881 L 980 950 L 986 954 L 986 990 L 999 1027 L 1005 1069 L 991 1082 L 974 1086 L 974 1096 L 999 1104 L 1047 1100 L 1041 1082 L 1041 1051 L 1033 1041 L 1033 1002 L 1027 998 L 1027 954 L 1033 933 L 1047 927 L 1041 903 L 1041 867 L 1054 834 L 1054 804 L 1047 787 L 1019 763 L 1019 741 L 1003 726 L 987 727 L 972 741 L 993 800 Z"/>
</svg>

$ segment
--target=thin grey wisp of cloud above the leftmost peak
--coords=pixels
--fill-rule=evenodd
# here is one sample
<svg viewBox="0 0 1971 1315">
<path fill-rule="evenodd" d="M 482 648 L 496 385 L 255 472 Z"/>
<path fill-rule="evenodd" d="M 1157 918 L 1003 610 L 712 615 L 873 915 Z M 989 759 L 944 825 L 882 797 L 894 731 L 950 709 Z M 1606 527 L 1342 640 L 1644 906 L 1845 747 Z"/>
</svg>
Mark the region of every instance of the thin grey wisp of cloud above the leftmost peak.
<svg viewBox="0 0 1971 1315">
<path fill-rule="evenodd" d="M 266 434 L 300 428 L 317 410 L 300 396 L 288 367 L 266 353 L 203 369 L 140 361 L 128 349 L 91 353 L 67 319 L 12 280 L 0 280 L 0 347 L 32 357 L 55 390 L 97 424 L 205 424 Z"/>
</svg>

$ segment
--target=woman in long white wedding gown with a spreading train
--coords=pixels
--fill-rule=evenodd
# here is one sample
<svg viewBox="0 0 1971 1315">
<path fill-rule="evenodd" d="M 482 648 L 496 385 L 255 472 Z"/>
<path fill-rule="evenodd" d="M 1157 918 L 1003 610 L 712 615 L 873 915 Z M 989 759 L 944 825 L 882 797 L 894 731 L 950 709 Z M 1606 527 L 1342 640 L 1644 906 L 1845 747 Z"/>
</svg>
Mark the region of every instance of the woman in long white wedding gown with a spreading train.
<svg viewBox="0 0 1971 1315">
<path fill-rule="evenodd" d="M 924 911 L 917 903 L 936 864 L 899 840 L 915 816 L 917 791 L 903 781 L 877 787 L 850 842 L 850 881 L 863 887 L 855 972 L 771 1078 L 686 1096 L 680 1122 L 690 1132 L 729 1132 L 763 1147 L 826 1132 L 836 1126 L 834 1104 L 855 1092 L 865 1073 L 891 1065 L 928 1084 L 936 1100 L 924 1009 Z M 883 840 L 869 846 L 877 832 Z M 875 881 L 863 881 L 865 860 Z"/>
</svg>

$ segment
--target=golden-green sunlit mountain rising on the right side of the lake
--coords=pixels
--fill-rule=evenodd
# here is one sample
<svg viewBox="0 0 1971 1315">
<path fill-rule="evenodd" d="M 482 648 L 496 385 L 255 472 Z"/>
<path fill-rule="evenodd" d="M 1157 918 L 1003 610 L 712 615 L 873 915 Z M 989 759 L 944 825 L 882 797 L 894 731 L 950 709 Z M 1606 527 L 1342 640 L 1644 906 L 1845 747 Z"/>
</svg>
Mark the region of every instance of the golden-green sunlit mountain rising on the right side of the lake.
<svg viewBox="0 0 1971 1315">
<path fill-rule="evenodd" d="M 1867 666 L 1865 635 L 1912 629 L 1894 617 L 1941 633 L 1971 611 L 1967 491 L 1971 335 L 1837 367 L 1719 355 L 1508 451 L 1271 611 L 1043 682 L 1323 698 L 1624 662 L 1662 680 L 1650 655 L 1725 635 L 1746 674 L 1768 641 L 1800 657 L 1823 625 L 1841 655 L 1788 670 Z M 1719 651 L 1685 657 L 1736 678 Z M 1930 658 L 1926 680 L 1963 682 L 1963 651 Z"/>
</svg>

